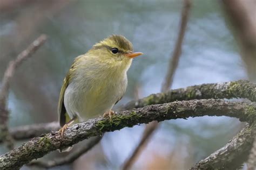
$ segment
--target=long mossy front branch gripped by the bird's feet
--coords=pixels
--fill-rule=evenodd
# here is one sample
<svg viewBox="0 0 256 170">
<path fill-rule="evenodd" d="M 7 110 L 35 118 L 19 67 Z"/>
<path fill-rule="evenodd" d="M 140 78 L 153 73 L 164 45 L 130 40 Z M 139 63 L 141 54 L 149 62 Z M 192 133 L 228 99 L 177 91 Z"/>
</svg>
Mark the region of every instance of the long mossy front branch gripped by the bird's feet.
<svg viewBox="0 0 256 170">
<path fill-rule="evenodd" d="M 240 121 L 252 122 L 256 118 L 254 104 L 223 100 L 192 100 L 150 105 L 144 108 L 118 112 L 112 119 L 103 117 L 70 126 L 64 133 L 64 139 L 58 132 L 52 132 L 33 138 L 18 148 L 0 156 L 0 169 L 17 169 L 31 160 L 69 147 L 84 139 L 102 135 L 105 132 L 132 127 L 141 123 L 164 121 L 168 119 L 198 116 L 229 116 Z"/>
</svg>

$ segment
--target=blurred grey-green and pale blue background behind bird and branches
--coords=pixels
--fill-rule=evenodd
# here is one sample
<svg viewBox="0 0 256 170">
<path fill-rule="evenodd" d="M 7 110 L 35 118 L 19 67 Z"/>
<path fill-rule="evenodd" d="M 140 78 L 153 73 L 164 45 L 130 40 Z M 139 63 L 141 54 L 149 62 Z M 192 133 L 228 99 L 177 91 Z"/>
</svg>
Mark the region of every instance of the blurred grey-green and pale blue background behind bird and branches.
<svg viewBox="0 0 256 170">
<path fill-rule="evenodd" d="M 60 87 L 73 59 L 110 34 L 124 35 L 134 51 L 144 53 L 133 60 L 126 94 L 116 108 L 137 95 L 159 93 L 177 39 L 182 5 L 179 0 L 1 0 L 0 77 L 19 52 L 40 34 L 48 35 L 11 82 L 9 127 L 57 121 Z M 172 88 L 248 79 L 231 30 L 220 1 L 192 1 Z M 73 164 L 52 169 L 119 169 L 144 128 L 137 125 L 106 133 L 100 144 Z M 241 128 L 238 119 L 228 117 L 165 121 L 132 169 L 187 169 L 224 146 Z M 0 154 L 7 151 L 0 145 Z M 53 152 L 43 159 L 65 155 Z"/>
</svg>

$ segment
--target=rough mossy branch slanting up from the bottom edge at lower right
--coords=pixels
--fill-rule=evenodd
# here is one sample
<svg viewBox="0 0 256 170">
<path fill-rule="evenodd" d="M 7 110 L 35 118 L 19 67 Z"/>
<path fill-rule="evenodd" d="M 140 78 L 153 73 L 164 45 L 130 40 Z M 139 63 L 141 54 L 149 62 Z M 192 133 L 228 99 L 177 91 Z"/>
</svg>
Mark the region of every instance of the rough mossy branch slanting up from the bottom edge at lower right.
<svg viewBox="0 0 256 170">
<path fill-rule="evenodd" d="M 238 169 L 248 158 L 254 137 L 248 124 L 224 147 L 207 158 L 200 160 L 191 170 L 196 169 Z"/>
</svg>

